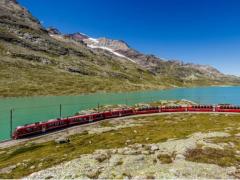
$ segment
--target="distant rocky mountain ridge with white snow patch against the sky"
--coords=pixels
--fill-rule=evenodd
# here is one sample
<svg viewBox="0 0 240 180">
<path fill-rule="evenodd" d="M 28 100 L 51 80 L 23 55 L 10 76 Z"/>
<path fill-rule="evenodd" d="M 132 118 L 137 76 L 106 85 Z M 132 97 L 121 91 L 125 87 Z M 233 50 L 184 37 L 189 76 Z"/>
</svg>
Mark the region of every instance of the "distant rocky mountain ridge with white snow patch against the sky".
<svg viewBox="0 0 240 180">
<path fill-rule="evenodd" d="M 176 61 L 176 60 L 163 60 L 161 58 L 158 58 L 154 55 L 144 55 L 132 48 L 129 47 L 129 45 L 122 41 L 122 40 L 112 40 L 107 38 L 99 38 L 92 41 L 92 38 L 89 38 L 89 36 L 86 36 L 87 38 L 83 39 L 83 41 L 89 46 L 90 48 L 95 49 L 105 49 L 113 54 L 120 54 L 122 57 L 126 57 L 127 59 L 131 59 L 131 61 L 143 66 L 144 68 L 149 69 L 153 73 L 160 73 L 162 75 L 166 75 L 167 71 L 164 69 L 170 69 L 170 66 L 178 67 L 178 68 L 186 68 L 186 71 L 190 69 L 194 69 L 195 71 L 198 71 L 201 75 L 206 75 L 209 77 L 222 77 L 225 76 L 221 72 L 219 72 L 217 69 L 208 66 L 208 65 L 198 65 L 198 64 L 191 64 L 187 63 L 184 64 L 183 62 Z M 168 66 L 168 67 L 165 67 Z M 182 71 L 182 70 L 180 70 Z M 176 74 L 177 72 L 174 71 L 172 75 Z M 182 74 L 184 77 L 188 77 L 191 75 L 194 75 L 195 72 L 192 74 Z M 179 74 L 181 74 L 179 72 Z"/>
</svg>

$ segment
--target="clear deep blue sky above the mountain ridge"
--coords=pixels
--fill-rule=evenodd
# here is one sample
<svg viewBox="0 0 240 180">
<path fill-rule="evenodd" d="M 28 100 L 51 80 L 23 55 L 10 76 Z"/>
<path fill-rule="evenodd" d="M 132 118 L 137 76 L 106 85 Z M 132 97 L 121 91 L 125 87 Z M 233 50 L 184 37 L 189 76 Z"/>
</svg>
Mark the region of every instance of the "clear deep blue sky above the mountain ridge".
<svg viewBox="0 0 240 180">
<path fill-rule="evenodd" d="M 18 0 L 45 27 L 240 75 L 239 0 Z"/>
</svg>

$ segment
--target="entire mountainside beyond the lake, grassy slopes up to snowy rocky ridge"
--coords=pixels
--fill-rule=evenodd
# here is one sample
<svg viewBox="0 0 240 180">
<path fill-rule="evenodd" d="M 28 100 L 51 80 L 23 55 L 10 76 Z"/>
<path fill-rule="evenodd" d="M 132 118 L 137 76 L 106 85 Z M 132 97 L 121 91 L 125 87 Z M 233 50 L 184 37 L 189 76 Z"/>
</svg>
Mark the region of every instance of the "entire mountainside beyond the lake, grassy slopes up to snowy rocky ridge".
<svg viewBox="0 0 240 180">
<path fill-rule="evenodd" d="M 145 55 L 124 41 L 45 29 L 15 0 L 0 1 L 0 69 L 4 97 L 240 84 L 210 66 Z"/>
</svg>

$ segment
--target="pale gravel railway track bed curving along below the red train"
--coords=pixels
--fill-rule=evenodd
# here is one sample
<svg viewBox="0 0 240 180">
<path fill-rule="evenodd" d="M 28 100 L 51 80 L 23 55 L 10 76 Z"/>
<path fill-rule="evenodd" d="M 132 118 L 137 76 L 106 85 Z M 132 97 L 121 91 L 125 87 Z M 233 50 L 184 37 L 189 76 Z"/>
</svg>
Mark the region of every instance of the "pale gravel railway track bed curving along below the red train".
<svg viewBox="0 0 240 180">
<path fill-rule="evenodd" d="M 104 119 L 101 121 L 92 122 L 88 124 L 71 126 L 71 127 L 64 128 L 62 130 L 55 130 L 52 132 L 47 132 L 45 134 L 30 136 L 23 139 L 16 139 L 16 140 L 11 139 L 11 140 L 2 141 L 0 142 L 0 149 L 21 145 L 26 142 L 36 142 L 36 143 L 48 142 L 56 138 L 59 138 L 61 136 L 73 135 L 73 134 L 84 132 L 87 128 L 98 126 L 99 123 L 104 121 L 122 120 L 122 119 L 135 118 L 135 117 L 147 117 L 147 116 L 159 116 L 159 115 L 164 116 L 164 115 L 172 115 L 172 114 L 240 114 L 240 113 L 239 112 L 160 112 L 160 113 L 138 114 L 138 115 L 132 115 L 132 116 L 110 118 L 110 119 Z"/>
</svg>

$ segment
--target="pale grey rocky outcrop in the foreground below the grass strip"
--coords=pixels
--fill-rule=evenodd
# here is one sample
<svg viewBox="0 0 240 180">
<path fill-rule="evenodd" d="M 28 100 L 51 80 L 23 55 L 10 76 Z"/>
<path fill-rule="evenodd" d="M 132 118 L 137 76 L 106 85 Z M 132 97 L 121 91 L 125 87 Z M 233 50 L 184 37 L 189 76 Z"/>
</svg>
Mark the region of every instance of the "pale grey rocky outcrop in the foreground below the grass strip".
<svg viewBox="0 0 240 180">
<path fill-rule="evenodd" d="M 189 150 L 198 146 L 216 149 L 231 146 L 208 141 L 210 138 L 229 136 L 224 132 L 194 133 L 186 139 L 171 139 L 158 144 L 133 144 L 125 148 L 97 150 L 93 154 L 81 155 L 72 161 L 33 173 L 26 179 L 236 178 L 240 167 L 220 167 L 186 160 Z"/>
</svg>

